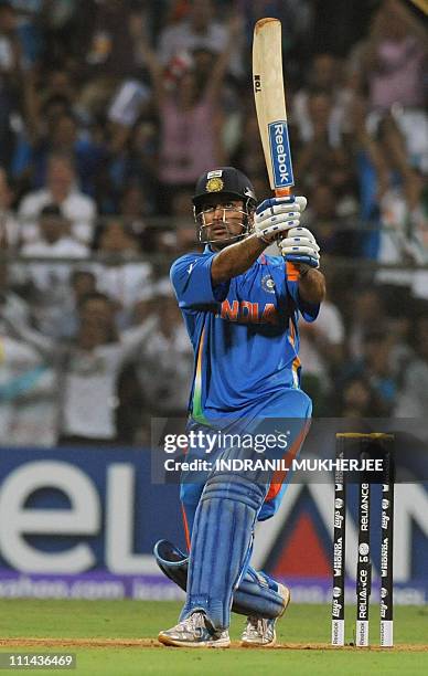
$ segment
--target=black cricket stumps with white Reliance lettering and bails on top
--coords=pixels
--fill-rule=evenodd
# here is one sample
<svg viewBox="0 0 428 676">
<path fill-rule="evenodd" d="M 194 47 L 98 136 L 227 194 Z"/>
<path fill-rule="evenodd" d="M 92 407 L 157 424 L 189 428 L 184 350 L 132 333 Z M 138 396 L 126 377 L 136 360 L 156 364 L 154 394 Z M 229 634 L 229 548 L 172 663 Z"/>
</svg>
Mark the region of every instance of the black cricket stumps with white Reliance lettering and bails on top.
<svg viewBox="0 0 428 676">
<path fill-rule="evenodd" d="M 392 454 L 394 435 L 383 433 L 338 433 L 336 461 L 343 461 L 349 445 L 359 447 L 360 458 L 370 457 L 371 447 L 383 456 L 381 500 L 381 646 L 394 645 L 393 637 L 393 529 L 395 468 Z M 368 612 L 372 591 L 370 546 L 371 483 L 367 474 L 359 480 L 359 546 L 356 562 L 356 627 L 355 645 L 368 646 Z M 333 600 L 332 645 L 345 643 L 345 528 L 346 476 L 336 468 L 334 474 Z"/>
</svg>

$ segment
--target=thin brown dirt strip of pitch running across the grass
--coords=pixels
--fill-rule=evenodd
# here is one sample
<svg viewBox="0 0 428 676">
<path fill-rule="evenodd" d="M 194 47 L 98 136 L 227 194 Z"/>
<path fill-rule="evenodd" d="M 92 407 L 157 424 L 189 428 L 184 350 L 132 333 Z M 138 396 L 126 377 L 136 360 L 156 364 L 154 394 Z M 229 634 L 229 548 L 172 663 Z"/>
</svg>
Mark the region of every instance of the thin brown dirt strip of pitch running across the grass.
<svg viewBox="0 0 428 676">
<path fill-rule="evenodd" d="M 161 645 L 154 638 L 31 638 L 29 636 L 22 636 L 22 638 L 0 638 L 0 648 L 9 647 L 38 647 L 43 646 L 44 648 L 54 647 L 68 647 L 68 648 L 106 648 L 106 647 L 151 647 L 151 648 L 163 648 L 163 649 L 176 649 L 173 646 Z M 231 644 L 232 648 L 240 648 L 243 651 L 252 651 L 255 648 L 240 647 L 237 641 L 233 641 Z M 205 648 L 206 649 L 206 648 Z M 208 648 L 208 649 L 228 649 L 228 648 Z M 269 651 L 359 651 L 359 652 L 388 652 L 388 653 L 428 653 L 428 645 L 399 643 L 392 648 L 383 648 L 379 645 L 372 645 L 366 648 L 355 647 L 354 645 L 345 645 L 335 647 L 330 643 L 278 643 L 272 648 L 261 648 Z"/>
</svg>

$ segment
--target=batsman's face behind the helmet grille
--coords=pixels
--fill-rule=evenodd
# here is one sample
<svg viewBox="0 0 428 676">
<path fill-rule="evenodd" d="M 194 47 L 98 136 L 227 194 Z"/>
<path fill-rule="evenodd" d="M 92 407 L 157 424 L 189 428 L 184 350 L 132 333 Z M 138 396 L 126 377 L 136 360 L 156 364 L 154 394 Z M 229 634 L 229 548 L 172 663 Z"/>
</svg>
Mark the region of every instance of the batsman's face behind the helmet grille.
<svg viewBox="0 0 428 676">
<path fill-rule="evenodd" d="M 223 249 L 247 232 L 247 219 L 242 200 L 220 196 L 207 199 L 197 214 L 202 241 Z"/>
</svg>

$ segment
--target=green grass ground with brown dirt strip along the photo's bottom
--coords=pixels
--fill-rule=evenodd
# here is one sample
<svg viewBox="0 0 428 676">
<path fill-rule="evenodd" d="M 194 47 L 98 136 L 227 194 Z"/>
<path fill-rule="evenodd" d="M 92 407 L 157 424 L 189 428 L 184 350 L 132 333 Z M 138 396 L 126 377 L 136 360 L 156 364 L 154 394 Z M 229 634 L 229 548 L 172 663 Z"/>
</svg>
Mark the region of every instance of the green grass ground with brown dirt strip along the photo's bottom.
<svg viewBox="0 0 428 676">
<path fill-rule="evenodd" d="M 1 652 L 72 652 L 79 676 L 133 674 L 295 676 L 428 674 L 428 609 L 397 606 L 393 649 L 329 648 L 330 608 L 293 605 L 278 623 L 275 649 L 183 649 L 160 646 L 160 629 L 175 624 L 180 604 L 142 601 L 0 600 Z M 372 606 L 371 640 L 378 643 L 378 609 Z M 347 611 L 352 642 L 354 608 Z M 237 641 L 243 619 L 233 615 Z M 320 646 L 321 644 L 321 646 Z M 325 644 L 322 646 L 322 644 Z M 290 647 L 289 647 L 290 646 Z M 15 673 L 1 669 L 1 674 Z M 38 669 L 38 674 L 58 673 Z M 73 673 L 73 672 L 72 672 Z"/>
</svg>

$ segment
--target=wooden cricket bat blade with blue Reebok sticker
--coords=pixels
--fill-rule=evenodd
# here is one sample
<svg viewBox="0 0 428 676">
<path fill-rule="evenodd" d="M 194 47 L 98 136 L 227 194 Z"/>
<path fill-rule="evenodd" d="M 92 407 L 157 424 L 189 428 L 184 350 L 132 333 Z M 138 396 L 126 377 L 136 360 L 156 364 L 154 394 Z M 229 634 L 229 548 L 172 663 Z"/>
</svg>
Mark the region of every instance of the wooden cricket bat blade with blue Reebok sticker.
<svg viewBox="0 0 428 676">
<path fill-rule="evenodd" d="M 282 76 L 281 23 L 260 19 L 253 40 L 254 97 L 271 190 L 289 194 L 293 186 Z"/>
</svg>

